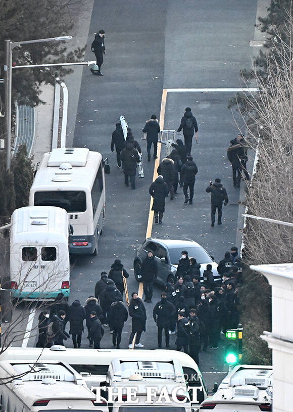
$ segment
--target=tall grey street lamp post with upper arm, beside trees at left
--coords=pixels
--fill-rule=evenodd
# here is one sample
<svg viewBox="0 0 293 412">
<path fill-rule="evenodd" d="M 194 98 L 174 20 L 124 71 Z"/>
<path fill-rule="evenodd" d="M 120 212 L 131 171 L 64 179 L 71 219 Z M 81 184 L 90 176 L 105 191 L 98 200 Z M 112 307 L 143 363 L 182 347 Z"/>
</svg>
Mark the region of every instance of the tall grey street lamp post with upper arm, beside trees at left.
<svg viewBox="0 0 293 412">
<path fill-rule="evenodd" d="M 11 166 L 11 94 L 12 94 L 12 50 L 21 45 L 29 43 L 41 43 L 45 41 L 70 40 L 72 36 L 60 36 L 50 38 L 40 38 L 37 40 L 15 41 L 5 40 L 5 64 L 4 64 L 4 85 L 5 85 L 5 116 L 6 116 L 6 170 Z"/>
</svg>

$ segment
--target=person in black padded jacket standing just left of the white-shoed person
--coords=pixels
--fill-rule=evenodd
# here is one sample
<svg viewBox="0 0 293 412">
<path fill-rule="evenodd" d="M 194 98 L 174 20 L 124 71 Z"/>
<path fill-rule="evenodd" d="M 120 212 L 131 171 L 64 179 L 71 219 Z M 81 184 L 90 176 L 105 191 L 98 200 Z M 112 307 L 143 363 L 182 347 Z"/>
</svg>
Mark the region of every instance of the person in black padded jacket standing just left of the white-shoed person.
<svg viewBox="0 0 293 412">
<path fill-rule="evenodd" d="M 113 346 L 117 345 L 117 349 L 120 349 L 122 329 L 124 322 L 126 322 L 127 319 L 128 312 L 124 306 L 124 303 L 119 300 L 119 298 L 116 298 L 115 302 L 113 302 L 110 306 L 107 323 L 110 326 L 110 329 L 113 330 Z"/>
</svg>

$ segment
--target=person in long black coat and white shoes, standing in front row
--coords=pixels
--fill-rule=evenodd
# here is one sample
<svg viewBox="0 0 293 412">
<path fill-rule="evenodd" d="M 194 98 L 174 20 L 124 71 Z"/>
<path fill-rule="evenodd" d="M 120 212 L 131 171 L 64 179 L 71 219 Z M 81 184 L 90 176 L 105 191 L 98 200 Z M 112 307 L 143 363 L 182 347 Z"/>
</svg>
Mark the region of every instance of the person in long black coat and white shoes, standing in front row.
<svg viewBox="0 0 293 412">
<path fill-rule="evenodd" d="M 141 333 L 145 331 L 146 312 L 142 300 L 138 297 L 136 292 L 131 294 L 131 300 L 129 304 L 129 315 L 132 317 L 132 329 L 129 338 L 128 347 L 132 348 L 133 338 L 135 338 L 135 346 L 143 348 L 143 345 L 139 342 Z"/>
</svg>

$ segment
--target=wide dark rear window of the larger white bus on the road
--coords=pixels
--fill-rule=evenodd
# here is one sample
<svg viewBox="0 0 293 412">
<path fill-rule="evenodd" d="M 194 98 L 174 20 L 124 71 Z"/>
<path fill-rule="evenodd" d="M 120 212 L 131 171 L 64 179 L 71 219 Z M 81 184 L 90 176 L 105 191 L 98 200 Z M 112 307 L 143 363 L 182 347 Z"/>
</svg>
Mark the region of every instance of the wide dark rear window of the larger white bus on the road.
<svg viewBox="0 0 293 412">
<path fill-rule="evenodd" d="M 67 212 L 85 212 L 86 197 L 83 191 L 35 192 L 34 206 L 58 206 Z"/>
</svg>

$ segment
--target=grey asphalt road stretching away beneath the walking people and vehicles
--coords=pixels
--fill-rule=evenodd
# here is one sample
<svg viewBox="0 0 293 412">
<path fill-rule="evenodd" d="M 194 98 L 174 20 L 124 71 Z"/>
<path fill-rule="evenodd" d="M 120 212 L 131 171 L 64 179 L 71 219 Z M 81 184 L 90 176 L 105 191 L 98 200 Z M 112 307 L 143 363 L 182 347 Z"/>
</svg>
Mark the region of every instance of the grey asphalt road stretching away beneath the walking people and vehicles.
<svg viewBox="0 0 293 412">
<path fill-rule="evenodd" d="M 148 194 L 154 172 L 154 161 L 146 162 L 146 144 L 141 142 L 145 177 L 138 179 L 136 190 L 123 183 L 121 169 L 116 166 L 110 141 L 115 123 L 121 114 L 140 141 L 146 119 L 160 114 L 163 88 L 203 88 L 201 91 L 173 91 L 167 94 L 165 129 L 176 129 L 184 108 L 190 106 L 199 123 L 199 144 L 193 143 L 192 155 L 199 173 L 193 205 L 183 204 L 178 191 L 173 202 L 166 202 L 162 226 L 153 228 L 153 236 L 175 235 L 198 241 L 217 261 L 236 243 L 241 227 L 238 221 L 239 190 L 231 181 L 231 168 L 226 159 L 229 141 L 238 132 L 227 109 L 234 93 L 211 92 L 211 87 L 239 87 L 239 70 L 250 67 L 249 41 L 254 36 L 257 0 L 113 0 L 95 1 L 91 15 L 85 60 L 91 60 L 90 43 L 94 33 L 106 31 L 106 56 L 102 72 L 93 76 L 88 68 L 82 72 L 76 116 L 74 147 L 88 147 L 108 157 L 111 174 L 106 176 L 106 220 L 99 242 L 99 254 L 77 257 L 71 271 L 70 303 L 83 304 L 93 294 L 102 270 L 110 270 L 116 258 L 130 273 L 129 293 L 137 291 L 133 276 L 135 248 L 145 239 L 150 205 Z M 241 123 L 240 123 L 241 125 Z M 69 126 L 73 126 L 72 124 Z M 72 127 L 73 129 L 73 127 Z M 162 148 L 162 155 L 164 148 Z M 210 197 L 205 192 L 209 180 L 221 177 L 229 196 L 224 208 L 223 225 L 210 225 Z M 240 247 L 240 244 L 236 246 Z M 159 300 L 156 287 L 153 301 Z M 146 304 L 148 322 L 141 343 L 157 348 L 153 304 Z M 121 347 L 127 347 L 130 321 L 124 328 Z M 101 347 L 112 347 L 107 328 Z M 171 348 L 175 348 L 171 336 Z M 34 338 L 29 340 L 29 346 Z M 72 347 L 72 342 L 67 341 Z M 223 346 L 220 345 L 220 346 Z M 82 347 L 88 347 L 86 334 Z M 201 370 L 209 388 L 220 381 L 226 371 L 223 348 L 201 353 Z"/>
</svg>

